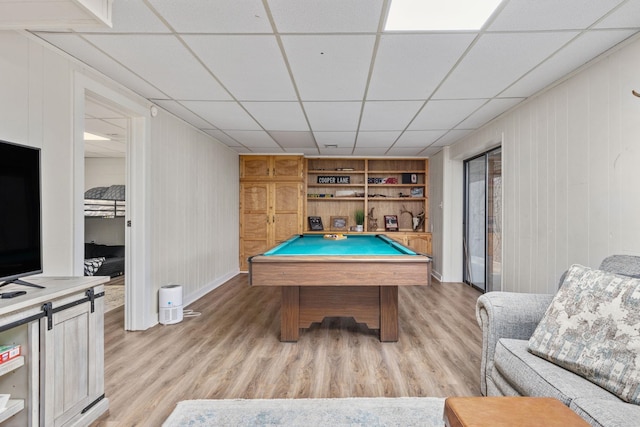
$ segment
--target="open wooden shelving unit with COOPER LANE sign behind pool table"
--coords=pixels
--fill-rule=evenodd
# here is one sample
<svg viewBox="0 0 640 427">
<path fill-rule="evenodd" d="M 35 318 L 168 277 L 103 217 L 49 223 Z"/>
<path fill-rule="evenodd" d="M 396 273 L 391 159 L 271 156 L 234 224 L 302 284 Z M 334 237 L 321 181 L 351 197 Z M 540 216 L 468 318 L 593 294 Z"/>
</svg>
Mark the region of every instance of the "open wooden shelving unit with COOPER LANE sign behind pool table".
<svg viewBox="0 0 640 427">
<path fill-rule="evenodd" d="M 333 231 L 331 217 L 347 217 L 350 228 L 356 225 L 356 210 L 367 215 L 373 209 L 377 228 L 365 218 L 365 233 L 384 233 L 430 253 L 428 177 L 428 159 L 306 158 L 305 232 L 312 232 L 309 216 L 322 218 L 322 232 L 328 232 Z M 413 216 L 424 212 L 421 226 L 414 229 L 412 215 L 403 211 Z M 398 231 L 385 230 L 385 215 L 398 217 Z"/>
</svg>

